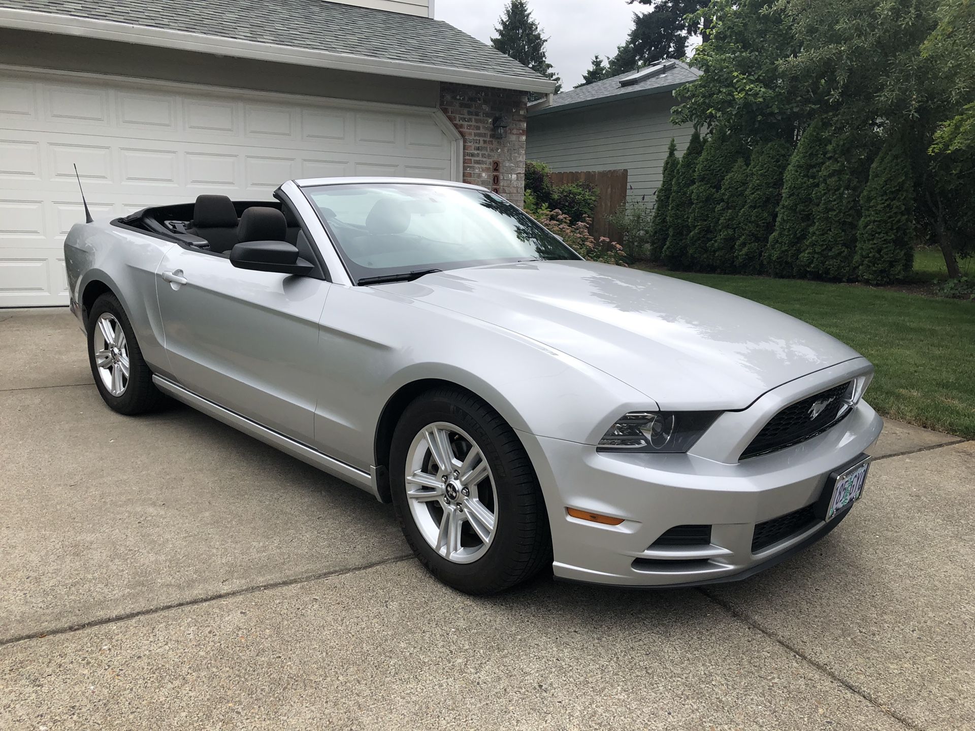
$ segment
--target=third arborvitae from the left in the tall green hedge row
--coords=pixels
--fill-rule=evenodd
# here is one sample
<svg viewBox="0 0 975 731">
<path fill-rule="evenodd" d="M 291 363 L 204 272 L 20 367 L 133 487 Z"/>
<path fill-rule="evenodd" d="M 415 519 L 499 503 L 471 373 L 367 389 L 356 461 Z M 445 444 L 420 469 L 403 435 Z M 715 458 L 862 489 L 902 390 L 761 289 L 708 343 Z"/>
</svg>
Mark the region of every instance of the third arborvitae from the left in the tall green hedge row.
<svg viewBox="0 0 975 731">
<path fill-rule="evenodd" d="M 714 267 L 711 246 L 718 236 L 721 218 L 722 182 L 734 165 L 737 139 L 721 131 L 713 133 L 704 143 L 701 159 L 694 173 L 691 189 L 692 206 L 690 235 L 687 237 L 687 263 L 696 271 Z"/>
</svg>

